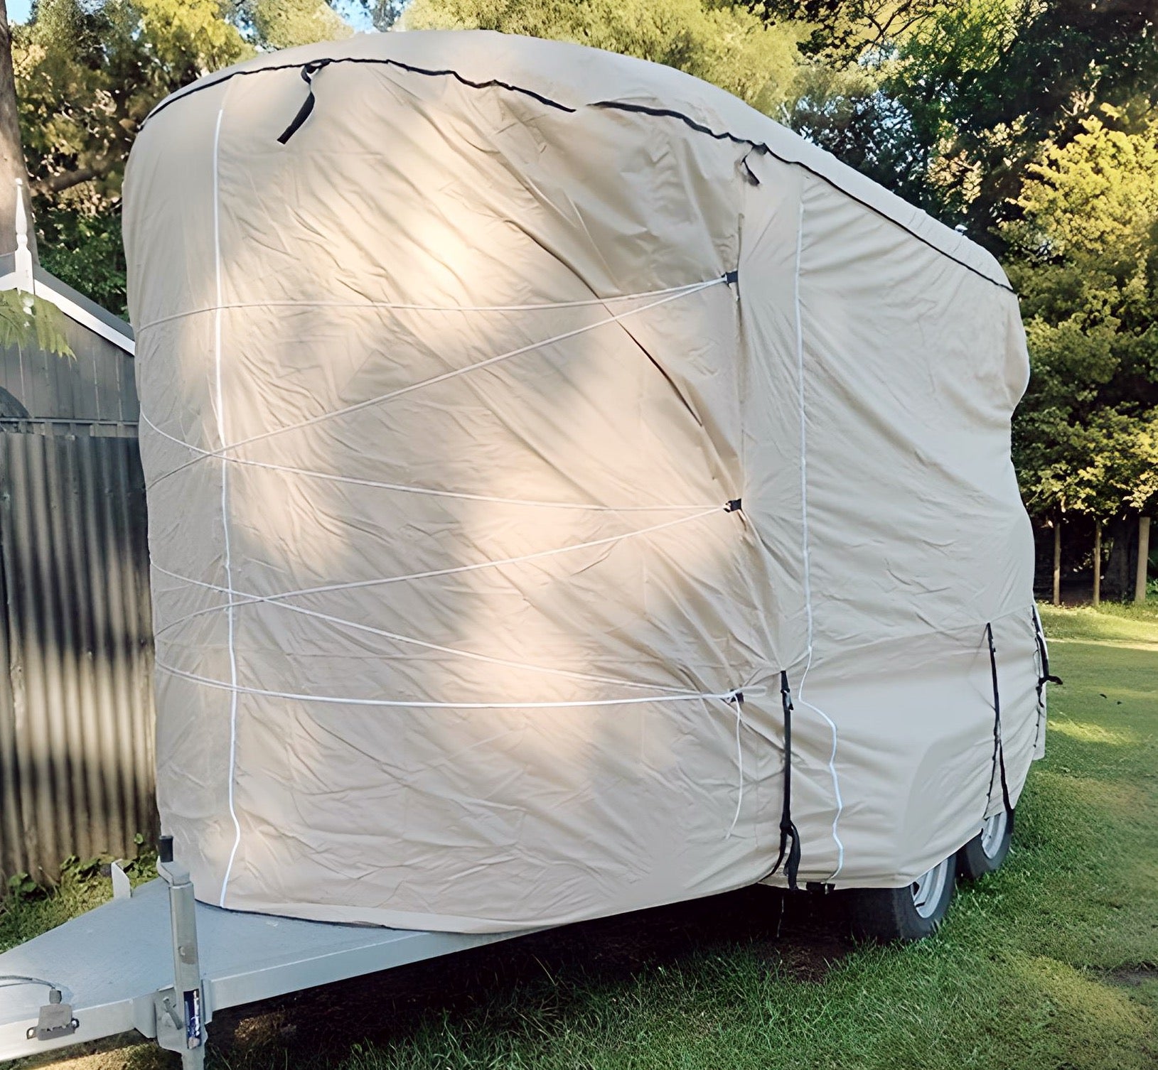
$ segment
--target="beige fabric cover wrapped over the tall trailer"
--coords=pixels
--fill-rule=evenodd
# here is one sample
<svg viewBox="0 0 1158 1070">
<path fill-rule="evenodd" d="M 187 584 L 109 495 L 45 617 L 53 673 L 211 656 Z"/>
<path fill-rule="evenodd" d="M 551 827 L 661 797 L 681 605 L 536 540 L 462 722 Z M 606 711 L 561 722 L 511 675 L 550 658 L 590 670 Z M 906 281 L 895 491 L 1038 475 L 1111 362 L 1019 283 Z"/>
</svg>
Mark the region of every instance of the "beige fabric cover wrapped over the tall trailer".
<svg viewBox="0 0 1158 1070">
<path fill-rule="evenodd" d="M 125 236 L 201 897 L 486 931 L 769 878 L 782 673 L 801 884 L 1017 799 L 1026 349 L 959 234 L 680 72 L 406 32 L 170 97 Z"/>
</svg>

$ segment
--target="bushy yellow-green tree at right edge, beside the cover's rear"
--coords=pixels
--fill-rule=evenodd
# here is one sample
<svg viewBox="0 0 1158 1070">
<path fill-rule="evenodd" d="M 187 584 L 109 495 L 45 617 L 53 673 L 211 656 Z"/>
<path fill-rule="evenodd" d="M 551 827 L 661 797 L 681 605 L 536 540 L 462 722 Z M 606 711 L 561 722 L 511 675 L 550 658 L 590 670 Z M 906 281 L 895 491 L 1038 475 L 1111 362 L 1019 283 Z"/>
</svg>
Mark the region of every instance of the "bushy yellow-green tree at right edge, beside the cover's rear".
<svg viewBox="0 0 1158 1070">
<path fill-rule="evenodd" d="M 1158 116 L 1106 105 L 1080 131 L 1002 228 L 1033 361 L 1013 448 L 1032 512 L 1117 518 L 1120 550 L 1158 504 Z"/>
</svg>

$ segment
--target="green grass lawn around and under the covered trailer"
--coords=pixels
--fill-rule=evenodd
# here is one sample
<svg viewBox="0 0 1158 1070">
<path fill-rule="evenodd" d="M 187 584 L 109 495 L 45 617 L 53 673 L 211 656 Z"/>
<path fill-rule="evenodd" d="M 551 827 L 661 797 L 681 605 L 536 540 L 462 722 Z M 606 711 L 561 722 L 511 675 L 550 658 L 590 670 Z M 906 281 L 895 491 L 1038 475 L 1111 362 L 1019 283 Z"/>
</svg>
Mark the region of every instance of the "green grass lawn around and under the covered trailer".
<svg viewBox="0 0 1158 1070">
<path fill-rule="evenodd" d="M 933 939 L 853 947 L 755 888 L 571 926 L 219 1016 L 210 1065 L 1158 1067 L 1158 610 L 1042 607 L 1048 756 L 1013 850 Z M 94 893 L 0 916 L 0 946 Z M 80 1063 L 170 1065 L 149 1046 Z"/>
</svg>

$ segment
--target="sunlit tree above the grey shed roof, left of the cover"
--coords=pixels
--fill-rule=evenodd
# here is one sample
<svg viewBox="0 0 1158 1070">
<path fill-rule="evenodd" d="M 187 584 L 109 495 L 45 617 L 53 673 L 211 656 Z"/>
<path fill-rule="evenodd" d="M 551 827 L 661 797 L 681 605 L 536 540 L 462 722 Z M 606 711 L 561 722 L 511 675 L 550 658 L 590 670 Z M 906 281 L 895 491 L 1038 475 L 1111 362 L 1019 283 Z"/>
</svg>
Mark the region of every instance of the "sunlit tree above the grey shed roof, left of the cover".
<svg viewBox="0 0 1158 1070">
<path fill-rule="evenodd" d="M 380 21 L 395 10 L 358 3 Z M 145 116 L 257 50 L 350 32 L 322 0 L 37 0 L 13 58 L 44 265 L 124 313 L 120 183 Z"/>
</svg>

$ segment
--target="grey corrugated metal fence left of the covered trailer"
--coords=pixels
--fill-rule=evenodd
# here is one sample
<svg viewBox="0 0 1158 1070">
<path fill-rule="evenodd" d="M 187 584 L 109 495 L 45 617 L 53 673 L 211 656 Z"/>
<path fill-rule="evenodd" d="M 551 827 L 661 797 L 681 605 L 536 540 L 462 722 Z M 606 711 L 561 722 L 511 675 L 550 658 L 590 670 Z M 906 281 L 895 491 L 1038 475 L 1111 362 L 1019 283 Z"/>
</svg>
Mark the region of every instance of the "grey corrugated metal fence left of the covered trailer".
<svg viewBox="0 0 1158 1070">
<path fill-rule="evenodd" d="M 155 829 L 135 438 L 0 432 L 0 872 Z"/>
</svg>

